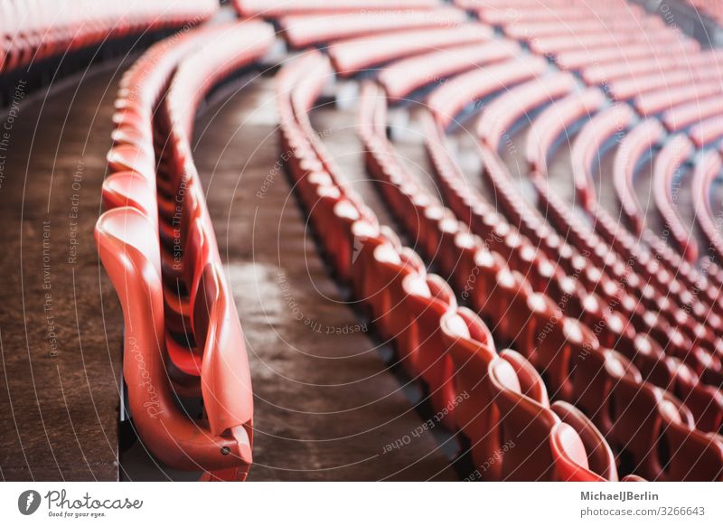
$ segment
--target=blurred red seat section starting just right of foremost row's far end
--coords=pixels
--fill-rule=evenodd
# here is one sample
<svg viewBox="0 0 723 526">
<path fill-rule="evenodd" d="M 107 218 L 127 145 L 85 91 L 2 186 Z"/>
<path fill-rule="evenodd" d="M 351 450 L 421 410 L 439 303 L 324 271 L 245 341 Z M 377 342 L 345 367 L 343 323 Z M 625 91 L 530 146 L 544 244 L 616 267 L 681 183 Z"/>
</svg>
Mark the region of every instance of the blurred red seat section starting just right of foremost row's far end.
<svg viewBox="0 0 723 526">
<path fill-rule="evenodd" d="M 439 7 L 404 11 L 293 14 L 280 18 L 278 25 L 286 42 L 300 50 L 347 38 L 422 27 L 448 27 L 465 21 L 464 12 Z"/>
</svg>

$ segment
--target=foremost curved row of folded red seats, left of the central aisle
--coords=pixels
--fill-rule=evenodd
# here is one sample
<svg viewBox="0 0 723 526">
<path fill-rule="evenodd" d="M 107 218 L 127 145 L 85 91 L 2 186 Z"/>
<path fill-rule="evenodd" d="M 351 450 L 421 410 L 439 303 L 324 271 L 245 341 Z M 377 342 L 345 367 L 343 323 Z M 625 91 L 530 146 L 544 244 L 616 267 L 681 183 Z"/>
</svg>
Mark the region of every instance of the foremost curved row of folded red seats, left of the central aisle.
<svg viewBox="0 0 723 526">
<path fill-rule="evenodd" d="M 192 159 L 192 119 L 274 42 L 266 23 L 203 26 L 158 42 L 121 81 L 99 255 L 123 308 L 130 418 L 164 465 L 243 480 L 253 396 L 239 316 Z M 202 399 L 192 418 L 179 399 Z"/>
</svg>

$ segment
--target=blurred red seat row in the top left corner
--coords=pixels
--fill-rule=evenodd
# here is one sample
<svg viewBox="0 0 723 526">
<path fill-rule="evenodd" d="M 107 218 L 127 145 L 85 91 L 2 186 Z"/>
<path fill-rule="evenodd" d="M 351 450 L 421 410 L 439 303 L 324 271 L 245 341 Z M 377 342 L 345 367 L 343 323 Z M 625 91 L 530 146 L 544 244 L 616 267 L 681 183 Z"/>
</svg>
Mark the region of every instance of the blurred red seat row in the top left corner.
<svg viewBox="0 0 723 526">
<path fill-rule="evenodd" d="M 0 5 L 0 74 L 111 39 L 201 23 L 217 9 L 216 0 L 9 0 Z"/>
</svg>

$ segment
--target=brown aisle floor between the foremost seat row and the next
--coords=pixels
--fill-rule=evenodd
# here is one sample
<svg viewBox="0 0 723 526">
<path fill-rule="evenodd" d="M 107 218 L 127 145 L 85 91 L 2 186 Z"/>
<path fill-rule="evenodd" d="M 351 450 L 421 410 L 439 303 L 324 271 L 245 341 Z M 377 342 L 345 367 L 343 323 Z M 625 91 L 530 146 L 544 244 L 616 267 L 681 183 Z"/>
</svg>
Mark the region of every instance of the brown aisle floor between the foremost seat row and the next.
<svg viewBox="0 0 723 526">
<path fill-rule="evenodd" d="M 251 363 L 249 480 L 455 479 L 434 424 L 418 431 L 423 420 L 409 401 L 418 393 L 386 370 L 386 350 L 345 305 L 305 232 L 276 164 L 273 82 L 220 98 L 195 128 L 194 158 Z M 343 127 L 344 118 L 329 124 Z"/>
</svg>

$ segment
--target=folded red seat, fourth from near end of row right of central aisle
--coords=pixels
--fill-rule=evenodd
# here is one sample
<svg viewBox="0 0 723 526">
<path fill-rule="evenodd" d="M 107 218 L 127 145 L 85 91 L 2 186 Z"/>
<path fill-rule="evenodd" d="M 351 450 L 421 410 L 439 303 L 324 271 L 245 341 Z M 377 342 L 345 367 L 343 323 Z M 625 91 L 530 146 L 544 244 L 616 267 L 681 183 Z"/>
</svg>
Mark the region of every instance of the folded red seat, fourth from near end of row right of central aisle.
<svg viewBox="0 0 723 526">
<path fill-rule="evenodd" d="M 399 333 L 399 362 L 427 386 L 432 408 L 441 423 L 455 429 L 455 388 L 452 361 L 446 353 L 439 323 L 456 309 L 455 293 L 435 275 L 409 274 L 401 283 L 406 329 Z"/>
</svg>

